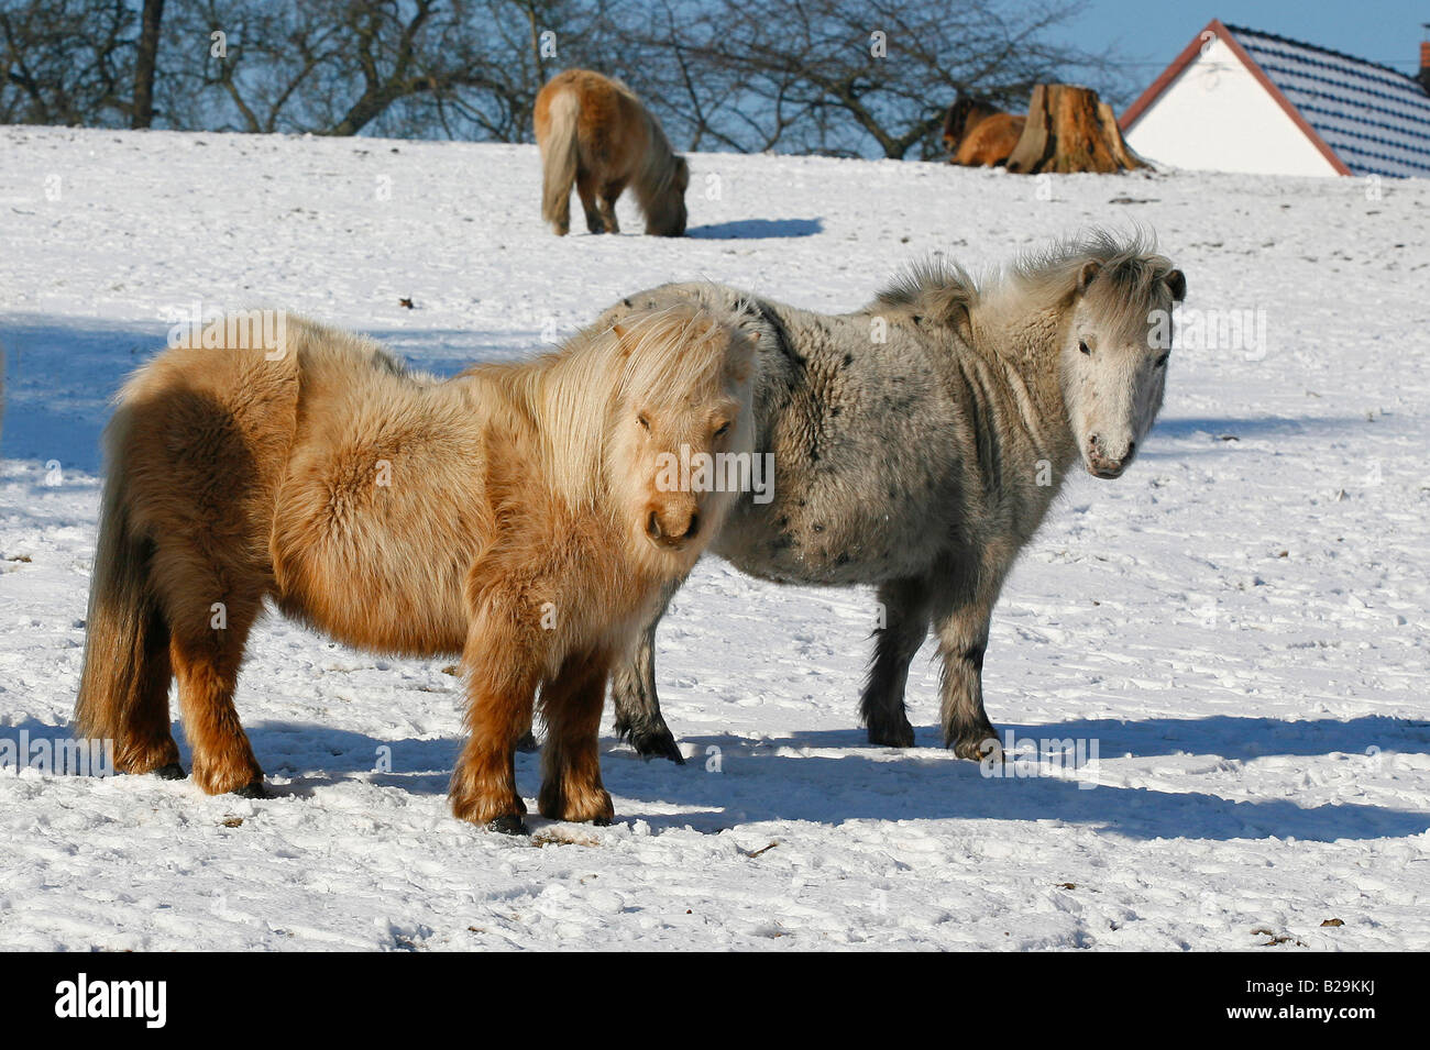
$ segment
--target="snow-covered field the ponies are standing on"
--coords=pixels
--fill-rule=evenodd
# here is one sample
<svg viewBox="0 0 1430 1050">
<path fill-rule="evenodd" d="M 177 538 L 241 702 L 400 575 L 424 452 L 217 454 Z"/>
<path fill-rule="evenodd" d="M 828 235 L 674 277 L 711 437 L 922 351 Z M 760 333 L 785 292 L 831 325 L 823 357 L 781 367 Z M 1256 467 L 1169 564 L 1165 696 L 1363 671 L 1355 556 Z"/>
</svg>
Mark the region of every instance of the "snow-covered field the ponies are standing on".
<svg viewBox="0 0 1430 1050">
<path fill-rule="evenodd" d="M 1095 767 L 942 751 L 931 647 L 919 747 L 869 747 L 872 594 L 706 560 L 659 644 L 689 763 L 608 711 L 616 824 L 513 839 L 448 813 L 446 661 L 270 620 L 239 710 L 277 797 L 0 774 L 0 947 L 1430 947 L 1430 184 L 692 171 L 689 239 L 558 240 L 533 147 L 0 129 L 0 743 L 67 733 L 106 400 L 173 309 L 287 307 L 450 373 L 672 279 L 847 310 L 931 251 L 1137 221 L 1194 316 L 1264 340 L 1173 354 L 1138 463 L 1070 484 L 994 617 L 994 721 Z"/>
</svg>

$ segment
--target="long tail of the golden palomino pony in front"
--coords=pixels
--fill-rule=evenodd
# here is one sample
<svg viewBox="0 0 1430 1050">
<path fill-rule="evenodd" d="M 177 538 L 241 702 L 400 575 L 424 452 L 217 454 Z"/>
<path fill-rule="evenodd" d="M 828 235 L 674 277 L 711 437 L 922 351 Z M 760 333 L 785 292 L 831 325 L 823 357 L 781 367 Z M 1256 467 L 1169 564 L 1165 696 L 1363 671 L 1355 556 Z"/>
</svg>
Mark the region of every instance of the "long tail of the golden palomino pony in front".
<svg viewBox="0 0 1430 1050">
<path fill-rule="evenodd" d="M 119 769 L 127 767 L 130 730 L 154 676 L 169 680 L 169 624 L 149 586 L 150 543 L 134 533 L 129 511 L 129 469 L 123 440 L 129 409 L 110 424 L 112 460 L 100 509 L 99 547 L 90 581 L 84 669 L 74 704 L 77 739 L 110 740 Z"/>
</svg>

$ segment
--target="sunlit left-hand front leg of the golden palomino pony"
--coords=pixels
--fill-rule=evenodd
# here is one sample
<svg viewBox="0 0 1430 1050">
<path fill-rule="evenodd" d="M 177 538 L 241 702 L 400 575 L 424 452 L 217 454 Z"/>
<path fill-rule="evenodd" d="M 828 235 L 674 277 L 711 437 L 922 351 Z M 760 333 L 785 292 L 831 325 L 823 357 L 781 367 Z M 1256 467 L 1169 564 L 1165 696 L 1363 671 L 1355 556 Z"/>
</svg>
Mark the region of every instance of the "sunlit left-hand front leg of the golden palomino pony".
<svg viewBox="0 0 1430 1050">
<path fill-rule="evenodd" d="M 522 833 L 526 804 L 516 793 L 516 744 L 531 729 L 542 677 L 539 627 L 518 617 L 478 616 L 462 661 L 470 730 L 452 773 L 452 813 L 495 831 Z"/>
</svg>

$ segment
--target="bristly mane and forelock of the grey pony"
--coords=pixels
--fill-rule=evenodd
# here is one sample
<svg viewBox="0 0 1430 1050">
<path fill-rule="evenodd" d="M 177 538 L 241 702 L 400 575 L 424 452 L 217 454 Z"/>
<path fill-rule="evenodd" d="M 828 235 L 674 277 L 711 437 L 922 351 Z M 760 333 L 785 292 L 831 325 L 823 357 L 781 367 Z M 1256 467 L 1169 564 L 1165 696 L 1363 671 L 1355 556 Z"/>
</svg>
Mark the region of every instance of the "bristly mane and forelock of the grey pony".
<svg viewBox="0 0 1430 1050">
<path fill-rule="evenodd" d="M 1138 324 L 1145 327 L 1154 286 L 1171 273 L 1173 264 L 1157 254 L 1153 234 L 1141 229 L 1130 234 L 1091 230 L 1057 240 L 984 279 L 974 277 L 957 263 L 925 259 L 879 291 L 872 309 L 892 309 L 947 323 L 960 307 L 971 310 L 997 293 L 1012 293 L 1038 304 L 1055 303 L 1075 291 L 1078 274 L 1088 263 L 1100 266 L 1091 287 L 1097 290 L 1101 306 L 1113 311 L 1108 320 L 1130 331 Z"/>
</svg>

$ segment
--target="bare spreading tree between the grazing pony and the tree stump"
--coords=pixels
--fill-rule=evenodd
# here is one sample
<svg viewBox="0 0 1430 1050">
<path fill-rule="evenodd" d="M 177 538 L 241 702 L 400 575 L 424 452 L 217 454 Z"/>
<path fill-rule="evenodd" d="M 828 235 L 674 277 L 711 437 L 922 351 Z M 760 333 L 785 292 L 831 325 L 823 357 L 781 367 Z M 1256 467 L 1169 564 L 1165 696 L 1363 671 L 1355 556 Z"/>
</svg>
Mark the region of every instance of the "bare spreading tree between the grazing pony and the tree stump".
<svg viewBox="0 0 1430 1050">
<path fill-rule="evenodd" d="M 1021 103 L 1090 56 L 1050 41 L 1075 0 L 719 0 L 682 4 L 672 53 L 699 70 L 702 134 L 736 149 L 938 156 L 958 91 Z M 714 131 L 714 129 L 719 129 Z"/>
</svg>

